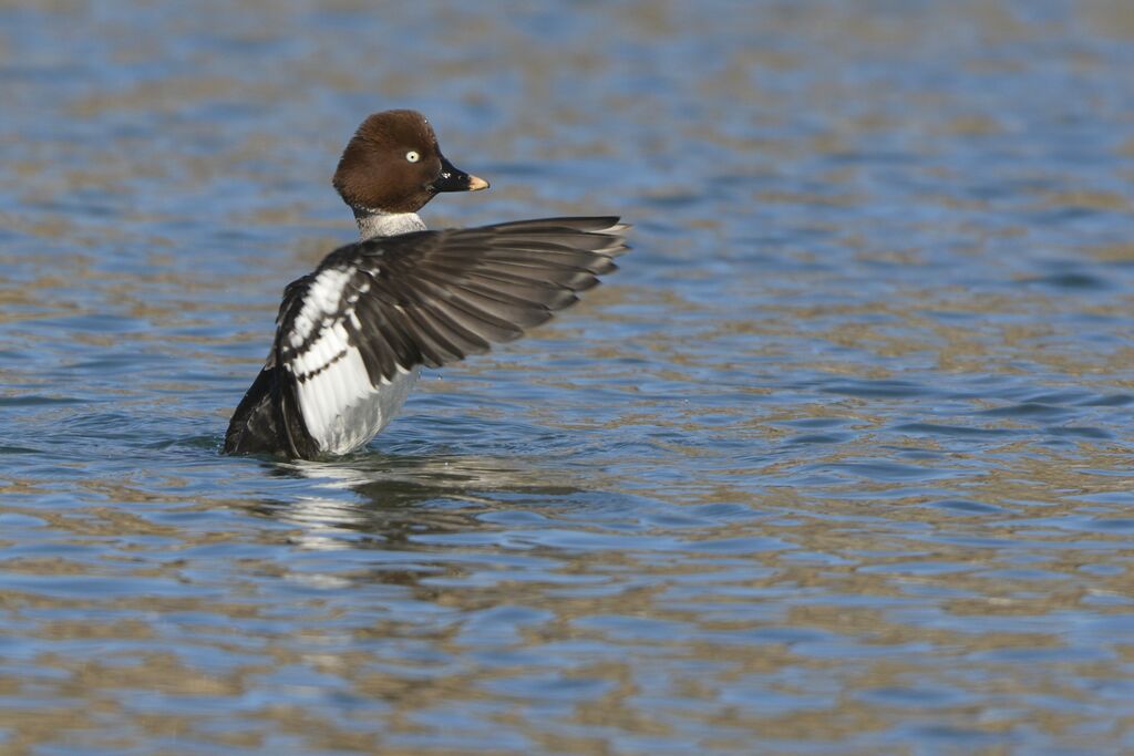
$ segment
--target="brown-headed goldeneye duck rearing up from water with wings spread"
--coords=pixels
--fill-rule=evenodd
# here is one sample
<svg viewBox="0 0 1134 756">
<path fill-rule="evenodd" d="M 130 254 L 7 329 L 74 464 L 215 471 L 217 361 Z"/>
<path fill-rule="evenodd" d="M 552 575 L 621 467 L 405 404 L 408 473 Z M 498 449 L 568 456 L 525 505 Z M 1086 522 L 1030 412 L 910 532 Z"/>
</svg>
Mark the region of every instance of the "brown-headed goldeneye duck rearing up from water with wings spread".
<svg viewBox="0 0 1134 756">
<path fill-rule="evenodd" d="M 616 216 L 428 231 L 439 192 L 486 189 L 446 160 L 412 110 L 374 113 L 332 181 L 362 240 L 284 290 L 276 340 L 225 434 L 226 453 L 314 459 L 353 451 L 401 408 L 422 365 L 511 341 L 615 270 Z"/>
</svg>

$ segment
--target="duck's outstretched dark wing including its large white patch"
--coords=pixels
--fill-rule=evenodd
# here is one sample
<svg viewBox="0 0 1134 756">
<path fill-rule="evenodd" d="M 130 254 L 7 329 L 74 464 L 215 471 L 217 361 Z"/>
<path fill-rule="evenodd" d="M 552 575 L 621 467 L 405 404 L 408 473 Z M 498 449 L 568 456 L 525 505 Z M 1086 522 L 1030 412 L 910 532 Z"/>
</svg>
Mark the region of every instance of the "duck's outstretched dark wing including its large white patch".
<svg viewBox="0 0 1134 756">
<path fill-rule="evenodd" d="M 626 228 L 617 218 L 549 218 L 336 249 L 280 306 L 274 359 L 290 451 L 315 456 L 332 436 L 341 445 L 344 433 L 373 435 L 388 417 L 353 430 L 341 418 L 382 394 L 400 405 L 418 366 L 486 351 L 577 301 L 615 270 Z"/>
</svg>

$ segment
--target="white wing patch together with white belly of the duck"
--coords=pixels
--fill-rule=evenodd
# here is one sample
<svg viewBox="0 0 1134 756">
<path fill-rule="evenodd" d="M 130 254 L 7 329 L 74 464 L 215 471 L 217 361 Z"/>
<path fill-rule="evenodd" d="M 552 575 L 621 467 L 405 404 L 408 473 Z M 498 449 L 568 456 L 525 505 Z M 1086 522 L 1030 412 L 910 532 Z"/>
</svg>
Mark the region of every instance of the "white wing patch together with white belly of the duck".
<svg viewBox="0 0 1134 756">
<path fill-rule="evenodd" d="M 347 286 L 357 270 L 321 271 L 286 337 L 284 368 L 296 379 L 304 424 L 324 453 L 344 455 L 374 438 L 397 415 L 418 375 L 401 368 L 392 381 L 371 383 L 345 325 L 362 330 L 355 303 L 370 284 L 358 291 Z"/>
</svg>

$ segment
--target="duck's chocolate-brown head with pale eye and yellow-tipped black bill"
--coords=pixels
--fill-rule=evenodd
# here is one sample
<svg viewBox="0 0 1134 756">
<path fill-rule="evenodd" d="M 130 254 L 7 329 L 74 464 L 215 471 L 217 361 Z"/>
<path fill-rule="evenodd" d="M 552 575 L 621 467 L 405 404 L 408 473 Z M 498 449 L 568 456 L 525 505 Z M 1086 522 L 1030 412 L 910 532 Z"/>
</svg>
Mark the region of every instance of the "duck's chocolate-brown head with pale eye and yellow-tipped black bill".
<svg viewBox="0 0 1134 756">
<path fill-rule="evenodd" d="M 413 213 L 439 192 L 489 186 L 445 159 L 433 127 L 414 110 L 386 110 L 364 120 L 342 151 L 332 184 L 356 215 Z"/>
</svg>

